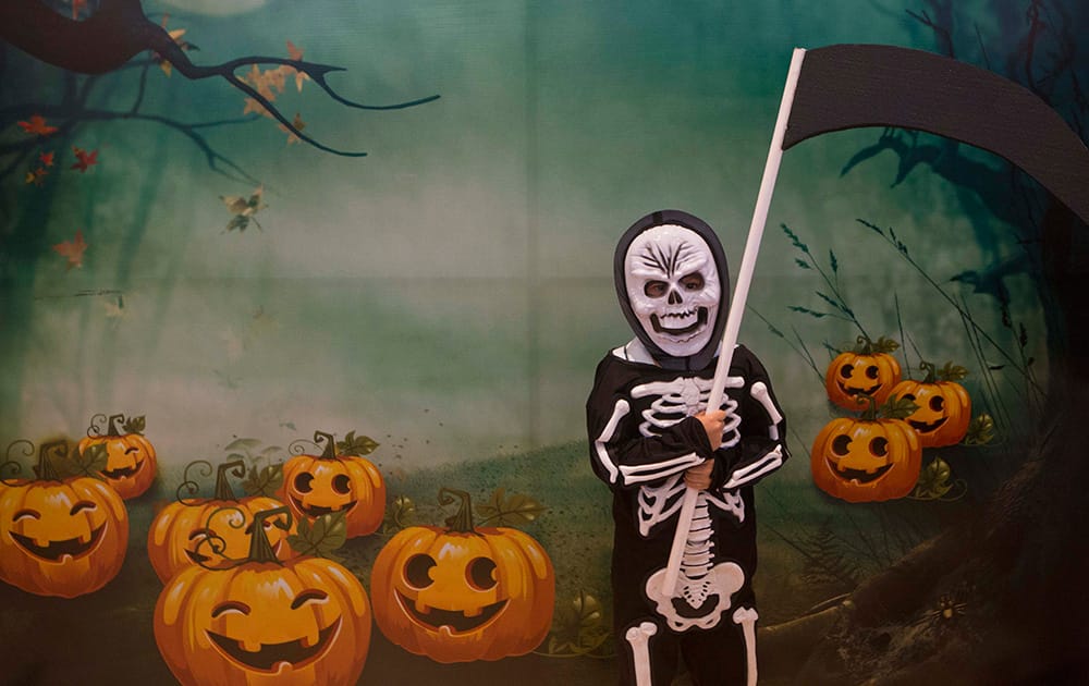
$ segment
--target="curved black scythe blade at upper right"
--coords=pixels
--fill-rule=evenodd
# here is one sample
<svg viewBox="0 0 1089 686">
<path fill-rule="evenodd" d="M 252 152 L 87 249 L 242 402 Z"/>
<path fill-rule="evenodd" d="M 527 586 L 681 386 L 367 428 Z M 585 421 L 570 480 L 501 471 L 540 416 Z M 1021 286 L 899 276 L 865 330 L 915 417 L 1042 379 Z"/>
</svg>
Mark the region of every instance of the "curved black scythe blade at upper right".
<svg viewBox="0 0 1089 686">
<path fill-rule="evenodd" d="M 861 126 L 926 131 L 989 150 L 1089 223 L 1089 150 L 1055 110 L 993 72 L 908 48 L 806 52 L 783 149 Z"/>
</svg>

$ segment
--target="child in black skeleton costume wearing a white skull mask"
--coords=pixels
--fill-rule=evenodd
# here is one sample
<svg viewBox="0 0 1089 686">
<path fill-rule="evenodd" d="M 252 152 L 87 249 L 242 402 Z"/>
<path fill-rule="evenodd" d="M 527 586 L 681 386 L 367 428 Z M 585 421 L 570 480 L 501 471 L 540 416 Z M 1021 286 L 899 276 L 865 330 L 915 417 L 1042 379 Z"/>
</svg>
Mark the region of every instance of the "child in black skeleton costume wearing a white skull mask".
<svg viewBox="0 0 1089 686">
<path fill-rule="evenodd" d="M 710 226 L 676 210 L 648 215 L 613 267 L 636 338 L 598 365 L 587 426 L 594 470 L 613 491 L 621 684 L 668 686 L 682 657 L 695 684 L 744 684 L 756 654 L 752 483 L 787 458 L 783 416 L 744 346 L 721 409 L 706 407 L 729 301 Z M 671 592 L 661 578 L 686 485 L 699 499 Z"/>
</svg>

